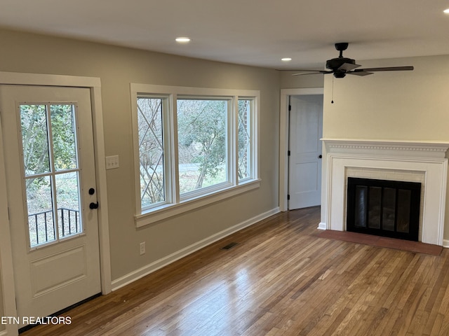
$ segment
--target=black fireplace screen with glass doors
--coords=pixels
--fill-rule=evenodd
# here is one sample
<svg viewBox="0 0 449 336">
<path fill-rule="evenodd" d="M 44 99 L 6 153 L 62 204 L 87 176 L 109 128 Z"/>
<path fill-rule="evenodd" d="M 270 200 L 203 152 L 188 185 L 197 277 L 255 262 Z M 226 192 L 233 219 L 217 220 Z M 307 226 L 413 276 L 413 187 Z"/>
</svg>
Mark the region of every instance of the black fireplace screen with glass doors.
<svg viewBox="0 0 449 336">
<path fill-rule="evenodd" d="M 418 240 L 421 183 L 348 178 L 347 231 Z"/>
</svg>

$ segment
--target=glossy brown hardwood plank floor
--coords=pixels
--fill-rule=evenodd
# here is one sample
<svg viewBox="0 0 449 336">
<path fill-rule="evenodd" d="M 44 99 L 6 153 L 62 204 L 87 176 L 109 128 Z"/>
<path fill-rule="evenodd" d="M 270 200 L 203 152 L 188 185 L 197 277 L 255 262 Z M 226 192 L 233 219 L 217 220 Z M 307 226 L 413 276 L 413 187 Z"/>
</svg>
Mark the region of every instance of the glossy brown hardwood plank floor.
<svg viewBox="0 0 449 336">
<path fill-rule="evenodd" d="M 272 216 L 22 335 L 449 335 L 449 249 L 320 238 L 319 216 Z"/>
</svg>

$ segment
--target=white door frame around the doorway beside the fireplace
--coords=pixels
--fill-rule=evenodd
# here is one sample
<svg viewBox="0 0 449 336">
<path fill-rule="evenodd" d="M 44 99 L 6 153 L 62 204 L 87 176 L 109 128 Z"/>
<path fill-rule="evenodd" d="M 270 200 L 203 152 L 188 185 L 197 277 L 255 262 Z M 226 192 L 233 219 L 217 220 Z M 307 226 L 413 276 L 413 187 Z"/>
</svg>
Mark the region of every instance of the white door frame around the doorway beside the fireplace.
<svg viewBox="0 0 449 336">
<path fill-rule="evenodd" d="M 281 89 L 281 107 L 279 109 L 279 210 L 281 211 L 288 211 L 288 130 L 290 127 L 288 104 L 290 96 L 311 94 L 324 94 L 324 88 Z"/>
</svg>

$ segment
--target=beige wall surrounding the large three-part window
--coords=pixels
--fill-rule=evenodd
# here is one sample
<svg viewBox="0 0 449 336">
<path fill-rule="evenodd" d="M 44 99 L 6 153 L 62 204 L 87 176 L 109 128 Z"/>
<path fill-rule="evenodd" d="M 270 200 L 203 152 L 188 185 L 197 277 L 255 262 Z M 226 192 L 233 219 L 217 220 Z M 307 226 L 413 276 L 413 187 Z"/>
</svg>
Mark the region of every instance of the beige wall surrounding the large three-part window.
<svg viewBox="0 0 449 336">
<path fill-rule="evenodd" d="M 4 30 L 0 41 L 0 71 L 101 79 L 105 151 L 120 158 L 107 171 L 113 280 L 278 207 L 277 71 Z M 260 188 L 136 229 L 130 83 L 260 90 Z"/>
</svg>

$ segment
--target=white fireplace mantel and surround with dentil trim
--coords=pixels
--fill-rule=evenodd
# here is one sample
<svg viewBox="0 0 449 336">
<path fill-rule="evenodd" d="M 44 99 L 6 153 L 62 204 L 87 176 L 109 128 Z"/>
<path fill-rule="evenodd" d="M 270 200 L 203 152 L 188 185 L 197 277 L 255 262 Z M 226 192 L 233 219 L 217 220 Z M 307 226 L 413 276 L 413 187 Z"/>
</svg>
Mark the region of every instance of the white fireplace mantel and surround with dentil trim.
<svg viewBox="0 0 449 336">
<path fill-rule="evenodd" d="M 347 169 L 379 169 L 404 175 L 424 174 L 420 241 L 443 244 L 449 148 L 446 142 L 322 139 L 324 214 L 321 228 L 346 230 Z M 400 175 L 400 174 L 398 174 Z"/>
</svg>

